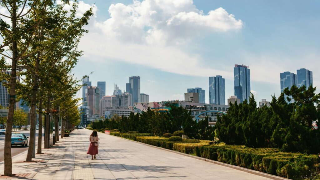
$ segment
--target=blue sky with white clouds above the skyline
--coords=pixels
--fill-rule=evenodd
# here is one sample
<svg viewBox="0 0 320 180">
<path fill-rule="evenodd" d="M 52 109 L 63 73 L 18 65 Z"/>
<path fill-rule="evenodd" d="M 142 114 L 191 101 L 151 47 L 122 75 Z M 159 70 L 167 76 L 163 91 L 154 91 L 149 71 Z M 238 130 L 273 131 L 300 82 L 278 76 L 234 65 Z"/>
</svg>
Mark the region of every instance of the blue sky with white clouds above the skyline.
<svg viewBox="0 0 320 180">
<path fill-rule="evenodd" d="M 306 68 L 320 85 L 318 0 L 83 0 L 79 15 L 90 7 L 74 73 L 89 75 L 92 86 L 106 81 L 106 95 L 140 76 L 150 102 L 201 87 L 208 103 L 208 77 L 221 75 L 227 103 L 235 64 L 249 66 L 257 102 L 280 95 L 284 71 Z"/>
</svg>

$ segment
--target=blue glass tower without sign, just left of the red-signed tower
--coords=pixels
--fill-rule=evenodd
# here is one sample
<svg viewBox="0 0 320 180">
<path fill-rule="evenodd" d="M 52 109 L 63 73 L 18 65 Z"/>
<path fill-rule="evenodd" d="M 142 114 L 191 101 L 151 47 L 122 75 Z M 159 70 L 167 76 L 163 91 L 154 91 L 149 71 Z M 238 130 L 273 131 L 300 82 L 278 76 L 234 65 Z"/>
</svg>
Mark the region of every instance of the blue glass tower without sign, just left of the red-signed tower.
<svg viewBox="0 0 320 180">
<path fill-rule="evenodd" d="M 226 104 L 225 84 L 222 76 L 209 77 L 209 103 Z"/>
</svg>

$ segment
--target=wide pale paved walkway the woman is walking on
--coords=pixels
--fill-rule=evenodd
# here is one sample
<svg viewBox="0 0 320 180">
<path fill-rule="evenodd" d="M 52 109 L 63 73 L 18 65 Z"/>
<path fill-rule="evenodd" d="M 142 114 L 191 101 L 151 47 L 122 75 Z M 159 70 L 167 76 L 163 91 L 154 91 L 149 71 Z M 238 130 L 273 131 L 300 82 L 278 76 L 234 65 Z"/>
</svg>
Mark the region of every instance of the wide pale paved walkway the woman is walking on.
<svg viewBox="0 0 320 180">
<path fill-rule="evenodd" d="M 102 133 L 98 133 L 99 155 L 96 160 L 91 160 L 91 155 L 86 155 L 91 132 L 75 130 L 52 148 L 43 149 L 44 154 L 36 155 L 33 160 L 44 162 L 13 163 L 13 174 L 28 173 L 25 174 L 27 179 L 38 180 L 270 180 Z M 25 157 L 26 152 L 12 162 L 25 160 Z M 1 164 L 0 174 L 3 170 Z"/>
</svg>

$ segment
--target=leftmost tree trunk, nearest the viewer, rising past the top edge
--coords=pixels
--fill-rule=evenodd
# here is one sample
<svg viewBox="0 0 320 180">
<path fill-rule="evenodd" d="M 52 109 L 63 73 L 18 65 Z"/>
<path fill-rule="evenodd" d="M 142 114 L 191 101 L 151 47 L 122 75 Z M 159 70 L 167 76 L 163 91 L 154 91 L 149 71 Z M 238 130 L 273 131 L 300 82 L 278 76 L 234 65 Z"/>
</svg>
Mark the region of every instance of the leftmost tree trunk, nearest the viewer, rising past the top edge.
<svg viewBox="0 0 320 180">
<path fill-rule="evenodd" d="M 14 105 L 16 104 L 16 76 L 17 76 L 17 62 L 18 62 L 18 50 L 16 36 L 17 27 L 17 6 L 16 2 L 12 2 L 12 65 L 11 65 L 11 79 L 10 79 L 10 99 L 9 110 L 7 119 L 7 128 L 5 131 L 4 139 L 4 175 L 12 175 L 12 157 L 11 157 L 11 133 L 12 133 L 12 121 L 14 113 Z"/>
</svg>

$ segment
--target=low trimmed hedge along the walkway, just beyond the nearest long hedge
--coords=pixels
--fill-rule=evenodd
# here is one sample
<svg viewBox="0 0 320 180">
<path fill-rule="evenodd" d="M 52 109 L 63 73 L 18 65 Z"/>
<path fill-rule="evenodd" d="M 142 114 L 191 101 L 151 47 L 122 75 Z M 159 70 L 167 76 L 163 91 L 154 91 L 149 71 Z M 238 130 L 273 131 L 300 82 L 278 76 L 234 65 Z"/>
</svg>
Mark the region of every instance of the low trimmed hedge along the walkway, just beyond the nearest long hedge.
<svg viewBox="0 0 320 180">
<path fill-rule="evenodd" d="M 157 147 L 162 147 L 165 149 L 173 149 L 173 144 L 177 143 L 176 141 L 169 141 L 169 138 L 165 138 L 165 137 L 155 137 L 155 136 L 141 136 L 141 137 L 137 137 L 137 141 L 141 142 L 141 143 L 146 143 L 146 144 L 150 144 L 153 146 L 157 146 Z M 194 140 L 194 139 L 183 139 L 181 142 L 179 143 L 199 143 L 199 140 Z"/>
</svg>

